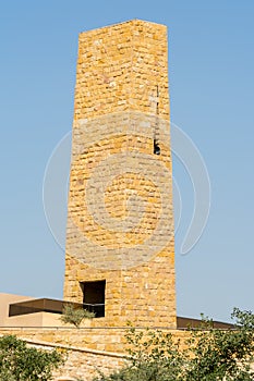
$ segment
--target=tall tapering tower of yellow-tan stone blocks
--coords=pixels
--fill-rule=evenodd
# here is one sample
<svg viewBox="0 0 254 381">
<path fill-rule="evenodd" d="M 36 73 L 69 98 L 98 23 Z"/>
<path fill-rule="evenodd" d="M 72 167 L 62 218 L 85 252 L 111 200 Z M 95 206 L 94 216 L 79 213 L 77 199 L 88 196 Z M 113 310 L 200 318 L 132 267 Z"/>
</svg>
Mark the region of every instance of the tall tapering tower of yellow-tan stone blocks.
<svg viewBox="0 0 254 381">
<path fill-rule="evenodd" d="M 95 327 L 176 328 L 167 48 L 140 20 L 80 35 L 64 299 Z"/>
</svg>

